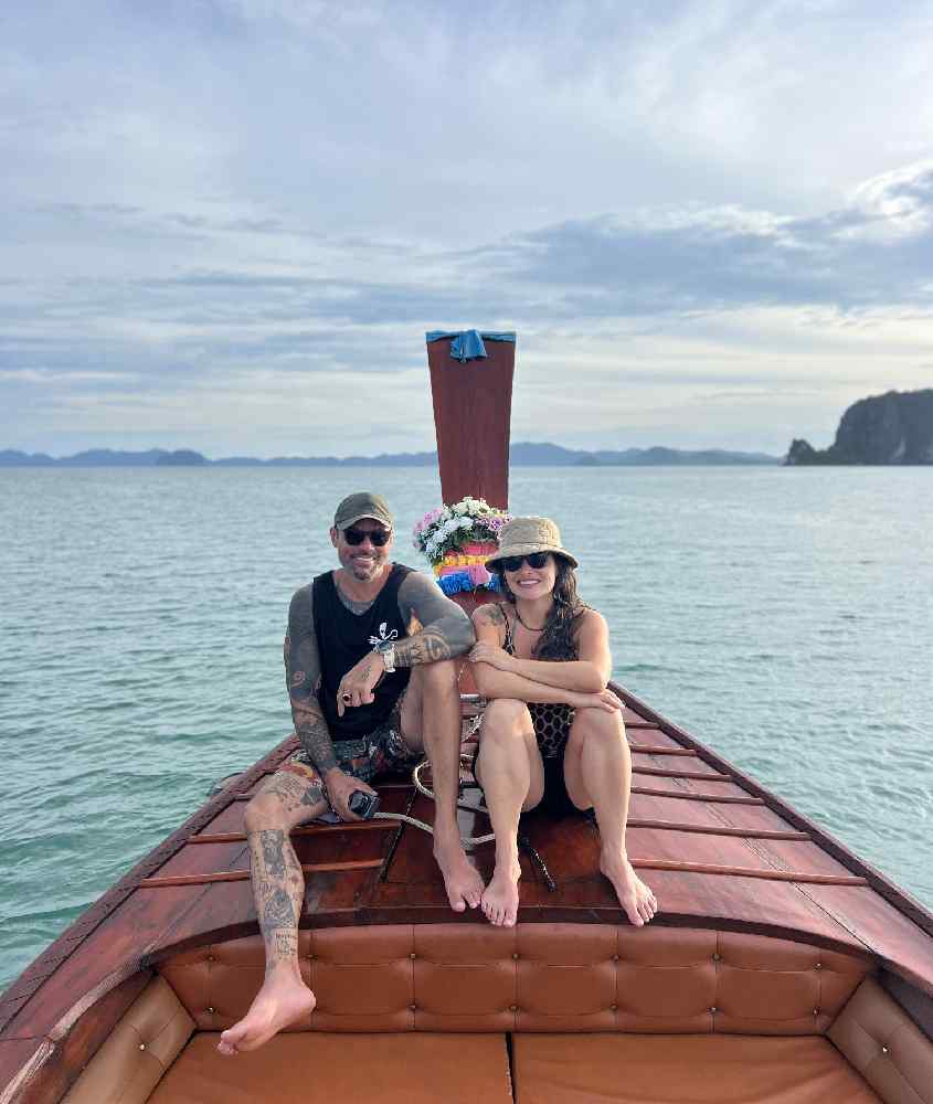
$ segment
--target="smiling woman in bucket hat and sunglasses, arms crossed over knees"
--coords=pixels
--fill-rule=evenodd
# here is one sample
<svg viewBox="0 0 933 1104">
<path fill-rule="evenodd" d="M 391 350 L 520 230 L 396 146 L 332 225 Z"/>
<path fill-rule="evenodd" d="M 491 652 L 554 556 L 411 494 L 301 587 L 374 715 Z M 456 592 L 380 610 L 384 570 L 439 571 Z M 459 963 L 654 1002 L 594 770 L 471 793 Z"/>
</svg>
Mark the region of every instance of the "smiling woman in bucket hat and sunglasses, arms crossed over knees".
<svg viewBox="0 0 933 1104">
<path fill-rule="evenodd" d="M 651 890 L 625 852 L 632 758 L 612 672 L 605 619 L 576 596 L 576 560 L 547 518 L 515 518 L 487 561 L 506 603 L 474 614 L 470 652 L 483 720 L 476 777 L 496 832 L 496 869 L 483 893 L 490 923 L 511 927 L 518 913 L 518 821 L 543 799 L 561 814 L 592 808 L 600 826 L 600 869 L 629 921 L 657 911 Z"/>
</svg>

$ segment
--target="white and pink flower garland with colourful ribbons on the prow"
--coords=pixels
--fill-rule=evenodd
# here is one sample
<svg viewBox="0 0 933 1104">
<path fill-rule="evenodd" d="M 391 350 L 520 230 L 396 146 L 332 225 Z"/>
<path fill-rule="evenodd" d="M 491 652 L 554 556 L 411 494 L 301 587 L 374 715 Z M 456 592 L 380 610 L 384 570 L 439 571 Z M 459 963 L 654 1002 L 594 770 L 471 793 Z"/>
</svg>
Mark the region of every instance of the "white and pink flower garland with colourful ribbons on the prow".
<svg viewBox="0 0 933 1104">
<path fill-rule="evenodd" d="M 434 567 L 445 594 L 478 586 L 496 590 L 498 583 L 486 570 L 486 560 L 496 552 L 499 530 L 510 520 L 503 510 L 467 495 L 453 506 L 428 511 L 415 526 L 412 543 Z"/>
</svg>

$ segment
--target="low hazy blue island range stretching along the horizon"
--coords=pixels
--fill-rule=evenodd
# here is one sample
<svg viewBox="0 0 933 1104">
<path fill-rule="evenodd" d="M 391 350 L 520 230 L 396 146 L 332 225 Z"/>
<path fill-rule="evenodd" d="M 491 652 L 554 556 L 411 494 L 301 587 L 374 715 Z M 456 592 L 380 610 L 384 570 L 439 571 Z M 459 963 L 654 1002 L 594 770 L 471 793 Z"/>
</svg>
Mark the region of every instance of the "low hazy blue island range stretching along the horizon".
<svg viewBox="0 0 933 1104">
<path fill-rule="evenodd" d="M 720 448 L 687 452 L 679 448 L 626 448 L 623 452 L 563 448 L 550 443 L 520 442 L 511 446 L 509 461 L 516 467 L 650 467 L 661 465 L 780 464 L 765 453 L 730 453 Z M 93 448 L 74 456 L 45 453 L 0 452 L 0 468 L 152 468 L 152 467 L 434 467 L 437 453 L 381 453 L 379 456 L 276 456 L 261 460 L 252 456 L 227 456 L 210 460 L 192 449 L 151 448 L 142 453 Z"/>
</svg>

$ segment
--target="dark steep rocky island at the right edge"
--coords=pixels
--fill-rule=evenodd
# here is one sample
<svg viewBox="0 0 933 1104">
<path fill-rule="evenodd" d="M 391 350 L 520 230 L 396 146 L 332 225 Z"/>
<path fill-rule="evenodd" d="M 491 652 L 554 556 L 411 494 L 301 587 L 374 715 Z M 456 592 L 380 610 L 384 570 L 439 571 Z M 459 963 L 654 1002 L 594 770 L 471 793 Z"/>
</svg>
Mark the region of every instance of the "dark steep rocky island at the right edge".
<svg viewBox="0 0 933 1104">
<path fill-rule="evenodd" d="M 860 399 L 842 415 L 829 448 L 816 449 L 795 438 L 784 463 L 792 467 L 933 464 L 933 389 Z"/>
</svg>

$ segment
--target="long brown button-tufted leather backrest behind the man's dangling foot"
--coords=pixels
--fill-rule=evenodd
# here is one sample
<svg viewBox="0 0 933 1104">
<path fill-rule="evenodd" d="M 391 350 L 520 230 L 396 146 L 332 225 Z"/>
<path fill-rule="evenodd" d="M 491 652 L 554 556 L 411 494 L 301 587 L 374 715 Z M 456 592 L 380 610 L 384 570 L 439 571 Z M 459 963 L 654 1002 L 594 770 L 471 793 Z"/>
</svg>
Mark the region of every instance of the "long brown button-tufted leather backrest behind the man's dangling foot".
<svg viewBox="0 0 933 1104">
<path fill-rule="evenodd" d="M 299 955 L 318 1005 L 294 1031 L 823 1034 L 868 972 L 783 940 L 593 924 L 304 931 Z M 262 940 L 160 968 L 198 1028 L 222 1030 L 262 984 Z"/>
</svg>

